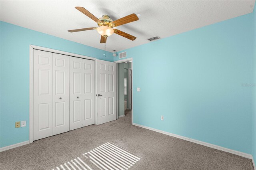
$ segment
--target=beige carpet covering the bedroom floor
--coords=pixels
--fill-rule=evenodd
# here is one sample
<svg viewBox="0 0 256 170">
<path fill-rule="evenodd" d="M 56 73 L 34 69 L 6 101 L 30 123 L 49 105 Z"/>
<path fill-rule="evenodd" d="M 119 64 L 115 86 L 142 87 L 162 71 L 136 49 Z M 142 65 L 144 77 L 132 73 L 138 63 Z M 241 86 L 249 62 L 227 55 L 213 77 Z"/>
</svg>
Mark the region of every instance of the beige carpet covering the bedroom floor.
<svg viewBox="0 0 256 170">
<path fill-rule="evenodd" d="M 253 170 L 250 159 L 133 126 L 130 110 L 116 121 L 79 128 L 1 152 L 0 169 L 68 170 L 66 165 L 75 169 L 79 169 L 76 165 L 80 169 L 82 166 L 104 169 L 90 161 L 92 158 L 106 169 L 120 169 L 113 168 L 113 164 L 129 162 L 124 151 L 140 158 L 125 170 Z M 97 152 L 104 157 L 97 156 Z M 117 153 L 119 157 L 114 155 Z M 104 162 L 110 158 L 112 163 Z"/>
</svg>

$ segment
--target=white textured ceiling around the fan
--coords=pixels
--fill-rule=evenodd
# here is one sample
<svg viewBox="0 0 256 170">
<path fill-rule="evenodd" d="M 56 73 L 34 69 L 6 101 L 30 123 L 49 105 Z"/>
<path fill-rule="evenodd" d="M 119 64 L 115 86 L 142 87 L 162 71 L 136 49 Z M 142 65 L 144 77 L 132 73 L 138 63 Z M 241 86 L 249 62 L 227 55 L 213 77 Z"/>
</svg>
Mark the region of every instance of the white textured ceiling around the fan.
<svg viewBox="0 0 256 170">
<path fill-rule="evenodd" d="M 166 38 L 253 11 L 255 0 L 241 1 L 2 1 L 1 21 L 64 38 L 99 49 L 96 30 L 70 33 L 67 30 L 96 27 L 97 24 L 78 10 L 82 6 L 100 18 L 108 14 L 116 20 L 135 13 L 139 20 L 119 30 L 136 36 L 130 41 L 113 34 L 106 49 L 117 51 L 148 43 L 147 38 Z"/>
</svg>

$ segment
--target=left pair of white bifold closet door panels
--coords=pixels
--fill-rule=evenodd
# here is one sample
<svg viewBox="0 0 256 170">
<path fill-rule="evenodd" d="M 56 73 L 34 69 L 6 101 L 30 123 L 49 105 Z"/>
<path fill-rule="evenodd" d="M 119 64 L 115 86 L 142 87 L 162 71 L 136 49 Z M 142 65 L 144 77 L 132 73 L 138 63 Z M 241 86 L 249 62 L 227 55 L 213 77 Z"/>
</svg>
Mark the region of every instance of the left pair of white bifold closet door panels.
<svg viewBox="0 0 256 170">
<path fill-rule="evenodd" d="M 34 49 L 33 140 L 69 130 L 69 56 Z"/>
</svg>

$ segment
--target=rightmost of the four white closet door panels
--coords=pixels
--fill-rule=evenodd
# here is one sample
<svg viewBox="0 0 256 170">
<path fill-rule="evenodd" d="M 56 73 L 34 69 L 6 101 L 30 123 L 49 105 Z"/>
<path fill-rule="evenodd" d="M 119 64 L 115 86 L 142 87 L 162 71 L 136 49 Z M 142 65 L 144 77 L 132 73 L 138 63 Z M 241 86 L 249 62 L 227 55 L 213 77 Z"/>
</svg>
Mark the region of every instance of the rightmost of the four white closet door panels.
<svg viewBox="0 0 256 170">
<path fill-rule="evenodd" d="M 84 60 L 83 126 L 95 123 L 95 66 L 94 60 Z"/>
</svg>

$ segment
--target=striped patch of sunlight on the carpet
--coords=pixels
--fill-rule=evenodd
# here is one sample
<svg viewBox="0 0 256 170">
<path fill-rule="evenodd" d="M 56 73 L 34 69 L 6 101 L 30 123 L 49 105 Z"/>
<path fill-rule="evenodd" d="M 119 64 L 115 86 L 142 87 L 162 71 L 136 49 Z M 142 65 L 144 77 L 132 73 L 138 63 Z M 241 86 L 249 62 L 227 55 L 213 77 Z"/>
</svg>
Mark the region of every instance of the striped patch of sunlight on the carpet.
<svg viewBox="0 0 256 170">
<path fill-rule="evenodd" d="M 80 157 L 74 158 L 52 170 L 128 170 L 140 156 L 112 143 L 107 142 Z M 88 163 L 93 166 L 89 166 Z"/>
</svg>

